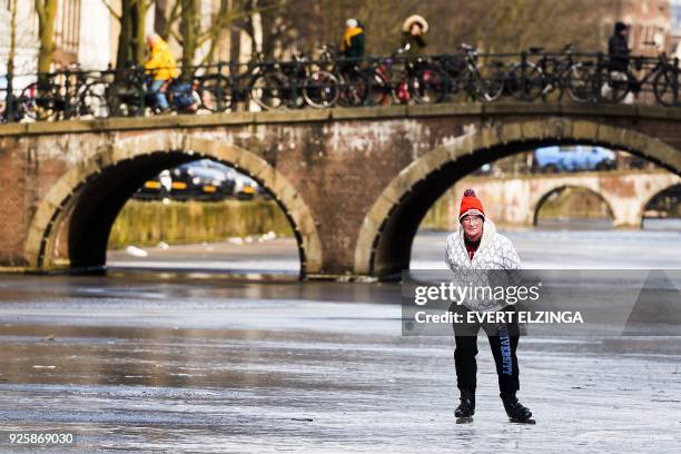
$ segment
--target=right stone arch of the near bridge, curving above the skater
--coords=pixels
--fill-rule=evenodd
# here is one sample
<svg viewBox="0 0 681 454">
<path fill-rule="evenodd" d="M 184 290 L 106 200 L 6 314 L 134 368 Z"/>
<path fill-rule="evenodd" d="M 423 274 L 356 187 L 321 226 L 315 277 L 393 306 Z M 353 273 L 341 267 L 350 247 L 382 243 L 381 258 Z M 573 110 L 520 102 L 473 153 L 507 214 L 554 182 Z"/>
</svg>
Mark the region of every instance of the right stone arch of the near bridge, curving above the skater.
<svg viewBox="0 0 681 454">
<path fill-rule="evenodd" d="M 414 236 L 430 207 L 483 164 L 541 146 L 578 144 L 626 150 L 681 175 L 679 150 L 625 127 L 547 117 L 472 128 L 414 160 L 384 188 L 359 228 L 355 273 L 386 277 L 408 269 Z"/>
</svg>

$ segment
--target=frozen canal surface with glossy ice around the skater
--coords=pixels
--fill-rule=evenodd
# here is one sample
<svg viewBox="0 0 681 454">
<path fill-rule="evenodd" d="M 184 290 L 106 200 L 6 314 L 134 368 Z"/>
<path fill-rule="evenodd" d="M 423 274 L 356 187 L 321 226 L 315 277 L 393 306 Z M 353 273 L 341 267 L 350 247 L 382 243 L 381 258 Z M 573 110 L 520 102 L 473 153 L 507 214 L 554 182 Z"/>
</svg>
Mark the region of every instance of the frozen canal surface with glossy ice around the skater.
<svg viewBox="0 0 681 454">
<path fill-rule="evenodd" d="M 511 235 L 526 266 L 681 267 L 678 231 L 535 234 Z M 442 240 L 420 236 L 415 267 L 434 266 Z M 286 254 L 268 261 L 290 264 Z M 678 452 L 681 338 L 523 337 L 519 396 L 537 424 L 521 426 L 481 337 L 475 422 L 456 425 L 453 339 L 403 337 L 399 295 L 396 284 L 0 276 L 0 452 L 30 451 L 8 431 L 38 430 L 76 434 L 75 452 Z"/>
</svg>

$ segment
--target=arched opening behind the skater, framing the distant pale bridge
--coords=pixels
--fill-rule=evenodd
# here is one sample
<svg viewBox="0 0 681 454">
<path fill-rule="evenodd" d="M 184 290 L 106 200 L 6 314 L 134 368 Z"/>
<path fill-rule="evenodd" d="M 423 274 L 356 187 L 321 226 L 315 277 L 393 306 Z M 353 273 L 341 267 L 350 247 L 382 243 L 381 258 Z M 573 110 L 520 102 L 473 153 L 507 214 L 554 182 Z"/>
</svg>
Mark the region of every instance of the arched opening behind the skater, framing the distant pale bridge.
<svg viewBox="0 0 681 454">
<path fill-rule="evenodd" d="M 670 235 L 678 235 L 678 226 L 674 234 L 633 233 L 635 226 L 631 225 L 615 229 L 611 207 L 620 204 L 615 205 L 620 218 L 631 210 L 635 214 L 653 181 L 674 179 L 669 171 L 625 165 L 609 170 L 543 172 L 532 170 L 531 155 L 519 152 L 488 162 L 457 180 L 424 217 L 412 246 L 409 268 L 445 268 L 444 244 L 458 227 L 458 204 L 465 188 L 476 190 L 496 229 L 514 243 L 527 268 L 671 266 L 681 254 L 681 246 L 650 253 L 660 241 L 673 245 Z M 632 157 L 620 155 L 618 161 L 629 162 Z M 638 194 L 629 194 L 633 187 Z M 624 201 L 619 198 L 622 195 L 626 196 Z"/>
</svg>

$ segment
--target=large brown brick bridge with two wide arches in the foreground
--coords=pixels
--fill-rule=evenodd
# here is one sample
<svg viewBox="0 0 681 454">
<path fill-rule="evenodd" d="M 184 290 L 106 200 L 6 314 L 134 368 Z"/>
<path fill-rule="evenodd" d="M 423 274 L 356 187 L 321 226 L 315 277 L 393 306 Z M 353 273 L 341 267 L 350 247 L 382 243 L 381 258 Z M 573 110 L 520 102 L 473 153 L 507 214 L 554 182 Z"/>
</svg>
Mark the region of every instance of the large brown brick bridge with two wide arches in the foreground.
<svg viewBox="0 0 681 454">
<path fill-rule="evenodd" d="M 273 194 L 303 276 L 387 276 L 408 268 L 421 220 L 458 179 L 561 144 L 628 150 L 680 175 L 681 110 L 450 103 L 6 125 L 0 266 L 102 269 L 131 194 L 164 168 L 206 157 Z"/>
</svg>

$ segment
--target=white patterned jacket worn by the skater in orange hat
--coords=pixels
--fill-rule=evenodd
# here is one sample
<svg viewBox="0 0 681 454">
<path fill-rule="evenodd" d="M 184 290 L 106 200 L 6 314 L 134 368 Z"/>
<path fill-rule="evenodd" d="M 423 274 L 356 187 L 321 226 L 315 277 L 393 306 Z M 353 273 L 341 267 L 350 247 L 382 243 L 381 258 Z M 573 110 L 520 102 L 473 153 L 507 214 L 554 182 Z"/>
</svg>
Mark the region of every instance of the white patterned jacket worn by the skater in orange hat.
<svg viewBox="0 0 681 454">
<path fill-rule="evenodd" d="M 485 219 L 480 246 L 468 258 L 468 251 L 464 243 L 464 230 L 461 226 L 447 237 L 445 246 L 445 263 L 454 273 L 454 284 L 458 286 L 509 286 L 517 285 L 521 269 L 521 261 L 513 243 L 502 234 L 496 231 L 496 227 L 491 219 Z M 487 270 L 499 269 L 506 273 L 493 273 Z M 490 282 L 493 276 L 494 283 Z M 500 283 L 500 277 L 502 282 Z M 472 310 L 499 310 L 506 306 L 505 302 L 494 298 L 466 298 L 463 303 Z"/>
</svg>

